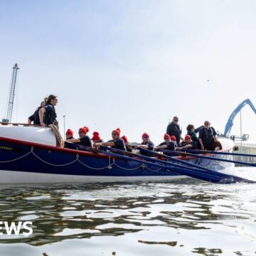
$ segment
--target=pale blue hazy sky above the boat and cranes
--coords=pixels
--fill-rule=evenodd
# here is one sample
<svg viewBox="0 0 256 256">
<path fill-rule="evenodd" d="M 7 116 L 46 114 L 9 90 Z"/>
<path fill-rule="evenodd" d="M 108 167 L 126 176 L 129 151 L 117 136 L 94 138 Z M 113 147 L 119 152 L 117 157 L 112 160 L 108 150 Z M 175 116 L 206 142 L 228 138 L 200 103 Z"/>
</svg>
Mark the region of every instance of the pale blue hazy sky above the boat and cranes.
<svg viewBox="0 0 256 256">
<path fill-rule="evenodd" d="M 63 133 L 82 126 L 129 141 L 163 140 L 177 115 L 208 119 L 220 132 L 243 100 L 256 106 L 256 1 L 0 0 L 0 117 L 18 63 L 13 122 L 58 95 Z M 209 80 L 209 81 L 208 81 Z M 256 115 L 242 110 L 242 132 L 256 143 Z M 230 134 L 240 134 L 240 114 Z"/>
</svg>

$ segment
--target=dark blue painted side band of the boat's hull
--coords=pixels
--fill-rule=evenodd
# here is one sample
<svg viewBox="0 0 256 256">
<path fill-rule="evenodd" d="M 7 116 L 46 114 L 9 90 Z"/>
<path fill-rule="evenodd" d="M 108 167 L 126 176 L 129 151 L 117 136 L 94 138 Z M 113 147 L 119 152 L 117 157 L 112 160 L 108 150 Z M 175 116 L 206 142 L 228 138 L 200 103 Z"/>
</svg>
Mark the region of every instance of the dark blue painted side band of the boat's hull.
<svg viewBox="0 0 256 256">
<path fill-rule="evenodd" d="M 1 142 L 1 146 L 15 149 L 15 151 L 1 150 L 1 170 L 79 176 L 180 176 L 154 166 L 142 166 L 135 161 L 115 159 L 113 162 L 113 159 L 101 158 L 93 154 L 80 155 L 77 158 L 77 154 L 41 148 L 31 151 L 31 146 L 17 146 L 9 142 Z"/>
</svg>

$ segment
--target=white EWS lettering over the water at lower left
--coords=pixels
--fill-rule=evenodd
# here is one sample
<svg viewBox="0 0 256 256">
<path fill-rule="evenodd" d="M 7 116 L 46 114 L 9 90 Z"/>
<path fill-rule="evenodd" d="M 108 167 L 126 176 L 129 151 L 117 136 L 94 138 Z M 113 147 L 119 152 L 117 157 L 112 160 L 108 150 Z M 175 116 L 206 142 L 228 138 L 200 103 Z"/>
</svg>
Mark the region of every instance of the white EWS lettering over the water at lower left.
<svg viewBox="0 0 256 256">
<path fill-rule="evenodd" d="M 0 221 L 0 235 L 32 235 L 33 228 L 31 228 L 32 221 L 18 221 L 18 223 L 8 221 Z M 5 233 L 2 230 L 6 231 Z M 21 232 L 22 230 L 22 232 Z M 26 231 L 25 231 L 26 230 Z"/>
</svg>

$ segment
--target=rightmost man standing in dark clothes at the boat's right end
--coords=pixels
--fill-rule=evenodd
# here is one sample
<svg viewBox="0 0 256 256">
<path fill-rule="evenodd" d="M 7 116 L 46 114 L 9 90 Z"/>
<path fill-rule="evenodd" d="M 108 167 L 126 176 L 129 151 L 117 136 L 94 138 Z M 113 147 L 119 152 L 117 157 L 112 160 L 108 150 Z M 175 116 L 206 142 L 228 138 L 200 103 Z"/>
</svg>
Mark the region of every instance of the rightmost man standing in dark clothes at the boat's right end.
<svg viewBox="0 0 256 256">
<path fill-rule="evenodd" d="M 204 126 L 199 131 L 199 143 L 202 150 L 213 150 L 213 142 L 217 139 L 217 132 L 213 127 L 210 127 L 210 122 L 205 121 Z"/>
</svg>

